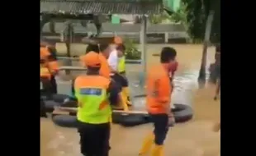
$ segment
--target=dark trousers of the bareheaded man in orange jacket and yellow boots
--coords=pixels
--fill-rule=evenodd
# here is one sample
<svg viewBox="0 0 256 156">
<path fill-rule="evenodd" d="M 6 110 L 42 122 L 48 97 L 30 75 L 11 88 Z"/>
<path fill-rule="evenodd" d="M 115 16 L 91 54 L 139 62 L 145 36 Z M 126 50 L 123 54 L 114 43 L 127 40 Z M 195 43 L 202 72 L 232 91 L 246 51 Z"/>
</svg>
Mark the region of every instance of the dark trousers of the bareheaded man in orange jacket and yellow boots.
<svg viewBox="0 0 256 156">
<path fill-rule="evenodd" d="M 150 114 L 152 122 L 154 123 L 154 143 L 155 145 L 164 145 L 164 140 L 168 133 L 168 115 Z"/>
</svg>

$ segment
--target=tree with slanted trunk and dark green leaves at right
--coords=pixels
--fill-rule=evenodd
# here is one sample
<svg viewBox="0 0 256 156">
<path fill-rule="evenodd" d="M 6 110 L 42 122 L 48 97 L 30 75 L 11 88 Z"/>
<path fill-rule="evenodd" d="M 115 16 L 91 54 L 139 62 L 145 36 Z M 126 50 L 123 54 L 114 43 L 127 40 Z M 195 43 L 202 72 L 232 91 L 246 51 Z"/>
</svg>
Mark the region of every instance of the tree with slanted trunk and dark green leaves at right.
<svg viewBox="0 0 256 156">
<path fill-rule="evenodd" d="M 220 42 L 220 0 L 183 0 L 188 33 L 193 42 L 204 40 L 198 81 L 206 82 L 206 55 L 209 42 Z M 207 22 L 206 22 L 207 21 Z"/>
</svg>

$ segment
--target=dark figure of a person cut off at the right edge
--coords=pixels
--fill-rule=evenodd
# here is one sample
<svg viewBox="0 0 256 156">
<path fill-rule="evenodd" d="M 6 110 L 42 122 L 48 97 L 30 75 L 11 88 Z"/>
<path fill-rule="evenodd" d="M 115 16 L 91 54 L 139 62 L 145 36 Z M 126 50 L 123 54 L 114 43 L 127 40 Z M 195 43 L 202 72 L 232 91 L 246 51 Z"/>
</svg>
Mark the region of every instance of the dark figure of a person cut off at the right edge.
<svg viewBox="0 0 256 156">
<path fill-rule="evenodd" d="M 216 62 L 215 62 L 215 72 L 216 72 L 216 92 L 214 100 L 218 99 L 220 94 L 220 44 L 216 45 Z"/>
</svg>

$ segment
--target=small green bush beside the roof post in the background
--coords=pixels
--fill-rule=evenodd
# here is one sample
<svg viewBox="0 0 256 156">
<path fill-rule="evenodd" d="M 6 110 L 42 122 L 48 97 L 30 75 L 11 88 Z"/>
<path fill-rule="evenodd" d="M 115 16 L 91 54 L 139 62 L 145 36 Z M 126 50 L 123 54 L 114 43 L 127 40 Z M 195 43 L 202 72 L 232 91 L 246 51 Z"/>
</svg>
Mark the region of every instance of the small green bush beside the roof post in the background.
<svg viewBox="0 0 256 156">
<path fill-rule="evenodd" d="M 138 50 L 134 41 L 131 39 L 126 39 L 124 43 L 126 45 L 126 59 L 130 59 L 130 60 L 140 59 L 141 52 Z"/>
</svg>

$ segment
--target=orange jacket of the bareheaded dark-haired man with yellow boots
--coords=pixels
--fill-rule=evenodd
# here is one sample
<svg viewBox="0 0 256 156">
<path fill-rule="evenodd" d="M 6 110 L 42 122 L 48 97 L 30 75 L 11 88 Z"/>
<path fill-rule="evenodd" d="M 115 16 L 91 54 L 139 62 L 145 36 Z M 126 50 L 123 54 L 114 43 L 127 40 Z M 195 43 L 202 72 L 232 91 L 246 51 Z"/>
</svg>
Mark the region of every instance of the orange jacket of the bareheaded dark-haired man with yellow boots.
<svg viewBox="0 0 256 156">
<path fill-rule="evenodd" d="M 147 110 L 150 114 L 168 113 L 171 101 L 171 82 L 167 65 L 152 67 L 147 76 Z"/>
</svg>

